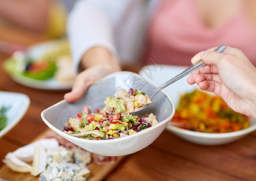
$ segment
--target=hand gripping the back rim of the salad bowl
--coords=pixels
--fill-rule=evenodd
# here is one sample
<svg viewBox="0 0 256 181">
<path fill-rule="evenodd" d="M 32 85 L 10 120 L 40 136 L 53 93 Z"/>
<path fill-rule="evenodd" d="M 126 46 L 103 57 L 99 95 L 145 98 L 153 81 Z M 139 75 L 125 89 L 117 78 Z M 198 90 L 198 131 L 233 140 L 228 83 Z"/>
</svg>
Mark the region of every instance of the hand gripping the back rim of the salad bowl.
<svg viewBox="0 0 256 181">
<path fill-rule="evenodd" d="M 64 95 L 68 102 L 79 100 L 95 81 L 121 69 L 117 60 L 101 47 L 95 47 L 86 52 L 81 63 L 86 69 L 75 78 L 71 92 Z"/>
</svg>

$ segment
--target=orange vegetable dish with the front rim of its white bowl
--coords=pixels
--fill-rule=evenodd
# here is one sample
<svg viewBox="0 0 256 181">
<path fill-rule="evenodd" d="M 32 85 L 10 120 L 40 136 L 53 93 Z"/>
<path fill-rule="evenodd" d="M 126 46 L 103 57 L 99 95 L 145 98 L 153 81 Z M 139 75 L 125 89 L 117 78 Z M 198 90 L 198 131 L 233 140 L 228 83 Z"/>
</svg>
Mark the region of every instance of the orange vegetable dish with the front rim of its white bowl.
<svg viewBox="0 0 256 181">
<path fill-rule="evenodd" d="M 167 130 L 201 145 L 237 141 L 256 130 L 256 120 L 234 112 L 217 95 L 194 89 L 180 95 Z"/>
</svg>

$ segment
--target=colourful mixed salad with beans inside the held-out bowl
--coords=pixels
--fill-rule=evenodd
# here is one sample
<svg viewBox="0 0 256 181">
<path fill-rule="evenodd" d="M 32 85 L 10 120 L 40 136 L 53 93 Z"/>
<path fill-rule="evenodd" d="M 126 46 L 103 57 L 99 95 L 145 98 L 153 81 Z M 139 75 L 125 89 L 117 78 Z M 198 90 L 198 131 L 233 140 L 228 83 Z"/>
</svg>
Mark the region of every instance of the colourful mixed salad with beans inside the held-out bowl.
<svg viewBox="0 0 256 181">
<path fill-rule="evenodd" d="M 115 97 L 108 97 L 103 109 L 89 113 L 87 106 L 77 118 L 70 118 L 64 126 L 64 132 L 85 139 L 114 139 L 141 132 L 158 124 L 153 113 L 139 118 L 133 116 L 136 109 L 152 103 L 144 92 L 130 88 L 129 92 L 121 89 Z"/>
</svg>

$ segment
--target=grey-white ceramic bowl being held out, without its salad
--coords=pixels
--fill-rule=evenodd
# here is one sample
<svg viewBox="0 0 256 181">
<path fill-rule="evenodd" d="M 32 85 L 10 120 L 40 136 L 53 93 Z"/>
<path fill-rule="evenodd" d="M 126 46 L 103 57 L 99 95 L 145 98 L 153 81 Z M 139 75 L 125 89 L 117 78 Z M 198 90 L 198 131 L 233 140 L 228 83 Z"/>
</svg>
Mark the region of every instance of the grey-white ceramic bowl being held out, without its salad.
<svg viewBox="0 0 256 181">
<path fill-rule="evenodd" d="M 133 114 L 142 116 L 146 113 L 154 113 L 159 123 L 134 135 L 110 140 L 88 140 L 77 138 L 63 132 L 65 123 L 68 122 L 69 118 L 81 112 L 83 106 L 89 106 L 89 112 L 97 108 L 102 108 L 104 106 L 104 100 L 107 97 L 113 97 L 114 93 L 121 88 L 128 90 L 130 87 L 139 89 L 149 95 L 155 89 L 152 84 L 138 74 L 133 72 L 116 72 L 94 83 L 79 101 L 75 103 L 68 103 L 65 100 L 60 101 L 48 109 L 43 110 L 41 117 L 45 124 L 54 130 L 54 132 L 92 153 L 105 156 L 121 156 L 135 153 L 155 141 L 171 118 L 173 118 L 175 111 L 174 104 L 163 92 L 159 92 L 153 99 L 153 103 L 146 109 Z"/>
</svg>

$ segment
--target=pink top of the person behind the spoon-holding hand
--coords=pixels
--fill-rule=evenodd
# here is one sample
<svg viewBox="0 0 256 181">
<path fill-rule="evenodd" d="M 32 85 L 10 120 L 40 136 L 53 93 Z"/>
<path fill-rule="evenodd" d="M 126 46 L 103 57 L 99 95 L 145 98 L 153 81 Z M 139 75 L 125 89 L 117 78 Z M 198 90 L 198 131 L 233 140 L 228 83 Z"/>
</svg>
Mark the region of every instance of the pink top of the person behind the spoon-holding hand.
<svg viewBox="0 0 256 181">
<path fill-rule="evenodd" d="M 210 28 L 203 24 L 196 2 L 163 0 L 149 27 L 146 55 L 161 64 L 188 66 L 197 52 L 225 44 L 241 49 L 256 66 L 255 36 L 243 6 L 228 22 Z"/>
</svg>

